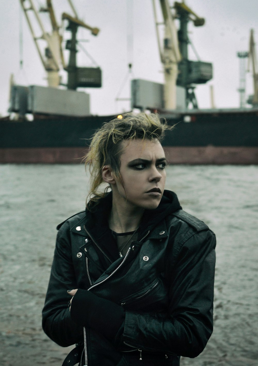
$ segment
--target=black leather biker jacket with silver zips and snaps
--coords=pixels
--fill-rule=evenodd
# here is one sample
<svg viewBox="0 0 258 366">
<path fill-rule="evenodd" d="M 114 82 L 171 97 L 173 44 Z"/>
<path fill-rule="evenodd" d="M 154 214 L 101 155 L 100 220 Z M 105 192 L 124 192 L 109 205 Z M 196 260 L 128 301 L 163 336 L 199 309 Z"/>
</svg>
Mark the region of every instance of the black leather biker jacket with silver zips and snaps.
<svg viewBox="0 0 258 366">
<path fill-rule="evenodd" d="M 181 210 L 174 193 L 163 196 L 122 258 L 107 250 L 106 205 L 98 222 L 86 210 L 58 227 L 46 334 L 61 346 L 83 341 L 83 324 L 73 322 L 67 307 L 68 289 L 89 289 L 126 310 L 115 344 L 86 328 L 89 366 L 176 366 L 181 355 L 199 355 L 212 333 L 215 235 Z"/>
</svg>

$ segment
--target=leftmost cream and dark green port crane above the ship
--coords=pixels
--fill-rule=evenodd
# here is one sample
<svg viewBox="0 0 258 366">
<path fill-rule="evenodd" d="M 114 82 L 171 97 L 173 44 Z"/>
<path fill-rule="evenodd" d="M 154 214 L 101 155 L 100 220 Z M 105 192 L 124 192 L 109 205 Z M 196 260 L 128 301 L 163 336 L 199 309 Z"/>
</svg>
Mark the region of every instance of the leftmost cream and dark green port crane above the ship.
<svg viewBox="0 0 258 366">
<path fill-rule="evenodd" d="M 71 39 L 66 42 L 66 49 L 69 50 L 69 61 L 65 63 L 64 53 L 62 49 L 63 37 L 60 32 L 60 26 L 57 23 L 56 16 L 51 0 L 46 0 L 46 6 L 39 10 L 34 5 L 33 0 L 20 0 L 23 12 L 25 14 L 31 35 L 37 48 L 39 57 L 47 72 L 48 85 L 58 87 L 61 83 L 60 70 L 68 72 L 68 89 L 76 90 L 77 87 L 100 87 L 101 86 L 101 70 L 97 68 L 86 68 L 76 66 L 76 32 L 78 27 L 84 27 L 91 31 L 91 34 L 97 36 L 99 29 L 91 27 L 78 18 L 76 10 L 72 4 L 72 0 L 68 3 L 73 12 L 73 16 L 63 12 L 62 21 L 67 20 L 67 30 L 71 31 Z M 47 32 L 39 13 L 48 13 L 52 31 Z M 39 35 L 36 33 L 39 32 Z M 45 41 L 45 49 L 42 51 L 42 41 Z"/>
</svg>

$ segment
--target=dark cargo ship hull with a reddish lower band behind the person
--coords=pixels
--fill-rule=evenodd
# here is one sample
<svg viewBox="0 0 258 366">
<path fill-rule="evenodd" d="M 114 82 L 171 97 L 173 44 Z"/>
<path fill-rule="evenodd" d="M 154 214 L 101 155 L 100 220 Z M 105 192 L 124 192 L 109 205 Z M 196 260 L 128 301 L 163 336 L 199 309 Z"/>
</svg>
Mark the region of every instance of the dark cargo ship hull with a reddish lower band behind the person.
<svg viewBox="0 0 258 366">
<path fill-rule="evenodd" d="M 162 112 L 172 164 L 258 164 L 258 109 Z M 0 121 L 0 163 L 80 163 L 95 130 L 114 116 Z"/>
</svg>

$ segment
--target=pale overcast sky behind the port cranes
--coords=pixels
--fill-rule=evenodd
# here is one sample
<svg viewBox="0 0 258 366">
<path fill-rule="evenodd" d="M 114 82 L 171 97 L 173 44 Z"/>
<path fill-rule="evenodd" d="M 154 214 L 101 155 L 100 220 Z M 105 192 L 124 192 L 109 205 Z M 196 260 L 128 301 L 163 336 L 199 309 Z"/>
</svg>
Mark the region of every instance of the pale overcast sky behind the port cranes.
<svg viewBox="0 0 258 366">
<path fill-rule="evenodd" d="M 19 0 L 1 1 L 0 13 L 0 114 L 7 115 L 9 79 L 14 73 L 20 85 L 46 85 L 45 70 L 41 64 Z M 34 0 L 44 5 L 45 0 Z M 189 23 L 189 37 L 202 61 L 213 63 L 213 79 L 197 86 L 200 108 L 210 107 L 209 85 L 213 85 L 217 108 L 239 106 L 238 51 L 248 51 L 250 29 L 254 28 L 258 42 L 257 0 L 186 0 L 186 4 L 205 25 L 194 27 Z M 100 28 L 98 36 L 80 29 L 78 38 L 88 40 L 83 47 L 102 69 L 103 86 L 86 89 L 90 94 L 92 114 L 111 114 L 129 111 L 129 78 L 121 93 L 119 90 L 128 75 L 128 63 L 133 64 L 132 78 L 163 82 L 156 40 L 151 0 L 73 0 L 79 18 L 88 25 Z M 172 1 L 171 1 L 172 4 Z M 71 10 L 66 0 L 53 0 L 57 20 L 61 12 Z M 157 5 L 158 1 L 157 1 Z M 47 17 L 43 18 L 44 24 Z M 69 33 L 66 33 L 67 38 Z M 195 59 L 190 52 L 191 59 Z M 66 55 L 67 56 L 67 55 Z M 20 68 L 20 60 L 23 68 Z M 77 55 L 79 66 L 94 66 L 85 53 Z M 65 78 L 65 73 L 64 73 Z M 64 79 L 65 80 L 65 79 Z M 253 93 L 251 74 L 247 74 L 247 92 Z"/>
</svg>

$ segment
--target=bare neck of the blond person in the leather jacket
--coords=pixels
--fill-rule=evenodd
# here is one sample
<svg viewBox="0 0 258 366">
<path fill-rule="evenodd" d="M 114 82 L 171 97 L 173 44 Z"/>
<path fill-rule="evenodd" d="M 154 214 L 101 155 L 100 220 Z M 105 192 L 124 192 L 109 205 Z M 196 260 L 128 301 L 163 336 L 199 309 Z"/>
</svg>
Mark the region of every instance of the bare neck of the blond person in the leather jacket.
<svg viewBox="0 0 258 366">
<path fill-rule="evenodd" d="M 143 208 L 116 205 L 113 201 L 109 227 L 117 233 L 134 231 L 139 227 L 143 213 Z"/>
</svg>

